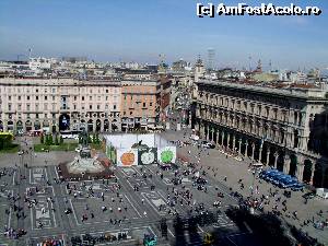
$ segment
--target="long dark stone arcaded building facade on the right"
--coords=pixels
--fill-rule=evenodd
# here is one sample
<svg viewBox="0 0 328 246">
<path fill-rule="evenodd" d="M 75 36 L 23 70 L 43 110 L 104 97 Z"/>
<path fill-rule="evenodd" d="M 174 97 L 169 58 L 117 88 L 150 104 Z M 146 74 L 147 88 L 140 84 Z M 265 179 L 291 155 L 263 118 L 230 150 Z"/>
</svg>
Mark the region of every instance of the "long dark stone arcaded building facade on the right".
<svg viewBox="0 0 328 246">
<path fill-rule="evenodd" d="M 325 91 L 207 80 L 197 87 L 195 128 L 202 137 L 301 181 L 328 187 Z"/>
</svg>

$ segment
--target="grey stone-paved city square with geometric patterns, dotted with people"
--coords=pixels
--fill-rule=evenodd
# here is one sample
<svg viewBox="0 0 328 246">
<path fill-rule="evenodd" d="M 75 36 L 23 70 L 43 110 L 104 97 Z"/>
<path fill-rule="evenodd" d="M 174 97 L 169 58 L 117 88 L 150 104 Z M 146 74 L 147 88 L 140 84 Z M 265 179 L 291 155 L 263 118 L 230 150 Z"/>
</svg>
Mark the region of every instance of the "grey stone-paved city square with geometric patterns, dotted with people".
<svg viewBox="0 0 328 246">
<path fill-rule="evenodd" d="M 171 141 L 184 138 L 187 140 L 190 136 L 190 131 L 187 131 L 168 130 L 163 136 Z M 31 143 L 27 140 L 24 148 L 30 150 Z M 82 238 L 87 233 L 126 233 L 128 236 L 125 241 L 107 245 L 136 245 L 149 233 L 156 235 L 160 244 L 179 245 L 181 235 L 176 234 L 173 225 L 175 214 L 190 215 L 190 208 L 200 203 L 209 211 L 220 210 L 222 213 L 212 226 L 198 226 L 196 234 L 186 231 L 183 235 L 185 245 L 199 245 L 203 234 L 213 230 L 225 233 L 225 245 L 243 245 L 238 243 L 243 241 L 248 242 L 248 245 L 259 245 L 250 232 L 241 231 L 224 213 L 230 206 L 238 203 L 235 197 L 230 196 L 232 190 L 249 196 L 248 187 L 256 185 L 258 194 L 255 196 L 260 196 L 270 188 L 276 189 L 270 184 L 254 180 L 248 171 L 250 160 L 239 162 L 226 157 L 219 150 L 200 150 L 194 145 L 178 148 L 178 154 L 188 157 L 192 163 L 199 163 L 199 171 L 206 172 L 209 180 L 206 191 L 192 186 L 192 174 L 184 175 L 181 184 L 175 186 L 172 183 L 175 177 L 174 169 L 162 171 L 156 165 L 117 167 L 114 169 L 116 178 L 110 179 L 60 183 L 56 164 L 72 159 L 75 153 L 50 152 L 37 156 L 28 153 L 23 161 L 17 155 L 7 155 L 3 159 L 1 156 L 1 171 L 5 171 L 5 175 L 0 179 L 0 245 L 37 245 L 46 238 L 62 239 L 71 245 L 72 237 Z M 28 164 L 27 167 L 24 167 L 25 163 Z M 3 166 L 11 167 L 4 169 Z M 179 172 L 188 171 L 184 165 L 178 167 Z M 241 178 L 245 184 L 244 189 L 238 184 Z M 169 203 L 173 191 L 181 194 L 186 190 L 190 190 L 192 198 L 180 197 L 172 207 Z M 219 199 L 218 192 L 222 192 L 224 198 Z M 282 190 L 278 192 L 282 197 Z M 26 194 L 32 201 L 30 203 L 24 201 Z M 213 203 L 218 200 L 221 203 L 219 208 L 214 208 Z M 323 216 L 317 214 L 319 210 L 324 211 L 324 216 L 327 215 L 327 201 L 315 198 L 305 204 L 301 191 L 292 192 L 286 203 L 290 211 L 298 212 L 300 220 L 284 219 L 298 227 L 306 219 L 320 220 Z M 13 204 L 22 209 L 14 208 Z M 272 206 L 273 202 L 265 209 L 270 210 Z M 167 241 L 161 235 L 162 218 L 167 220 Z M 19 239 L 9 238 L 3 234 L 4 226 L 24 229 L 27 235 Z M 313 224 L 303 226 L 303 230 L 323 243 L 328 243 L 327 230 L 317 230 Z"/>
</svg>

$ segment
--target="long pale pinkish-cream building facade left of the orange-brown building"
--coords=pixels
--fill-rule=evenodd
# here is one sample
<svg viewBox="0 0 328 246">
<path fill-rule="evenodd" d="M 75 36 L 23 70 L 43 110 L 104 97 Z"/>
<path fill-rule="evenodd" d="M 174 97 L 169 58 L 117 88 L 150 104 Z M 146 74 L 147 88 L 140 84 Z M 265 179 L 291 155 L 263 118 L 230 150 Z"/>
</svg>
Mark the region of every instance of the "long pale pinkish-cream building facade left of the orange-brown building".
<svg viewBox="0 0 328 246">
<path fill-rule="evenodd" d="M 119 80 L 0 79 L 0 130 L 120 130 Z"/>
</svg>

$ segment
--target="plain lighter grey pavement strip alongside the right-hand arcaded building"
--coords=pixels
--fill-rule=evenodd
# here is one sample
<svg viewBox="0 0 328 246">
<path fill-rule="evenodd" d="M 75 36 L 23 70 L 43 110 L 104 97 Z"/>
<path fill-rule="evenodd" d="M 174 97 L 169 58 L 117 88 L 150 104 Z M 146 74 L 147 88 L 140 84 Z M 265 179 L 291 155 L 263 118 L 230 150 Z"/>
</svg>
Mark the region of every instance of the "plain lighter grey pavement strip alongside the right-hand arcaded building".
<svg viewBox="0 0 328 246">
<path fill-rule="evenodd" d="M 188 141 L 187 138 L 189 138 L 190 134 L 186 134 L 185 141 Z M 183 140 L 184 133 L 183 132 L 166 132 L 165 137 L 168 140 Z M 190 151 L 190 154 L 188 152 Z M 270 204 L 265 206 L 266 211 L 271 211 L 272 208 L 277 204 L 278 210 L 281 211 L 282 204 L 281 202 L 283 200 L 286 200 L 286 207 L 288 211 L 292 213 L 293 211 L 297 211 L 297 218 L 298 220 L 291 218 L 286 218 L 283 215 L 283 218 L 291 224 L 295 225 L 296 227 L 301 227 L 301 224 L 303 224 L 304 221 L 311 220 L 311 221 L 323 221 L 328 218 L 328 200 L 323 200 L 319 198 L 314 198 L 308 200 L 307 204 L 304 203 L 304 198 L 302 198 L 302 195 L 304 195 L 307 191 L 301 192 L 301 191 L 292 191 L 291 198 L 285 198 L 283 196 L 284 189 L 280 189 L 278 187 L 272 186 L 269 183 L 266 183 L 259 178 L 256 178 L 254 180 L 254 175 L 250 169 L 248 169 L 249 164 L 251 163 L 251 160 L 248 157 L 245 157 L 244 161 L 236 161 L 233 157 L 227 157 L 225 154 L 220 153 L 219 150 L 204 150 L 204 149 L 198 149 L 194 145 L 187 145 L 183 148 L 178 148 L 178 153 L 180 155 L 187 156 L 191 162 L 198 162 L 198 153 L 200 153 L 200 165 L 202 166 L 202 169 L 204 169 L 208 175 L 215 178 L 216 180 L 221 183 L 225 183 L 227 187 L 231 187 L 233 191 L 238 191 L 244 197 L 248 197 L 251 195 L 250 187 L 254 183 L 254 188 L 258 186 L 258 194 L 255 194 L 254 196 L 259 198 L 260 196 L 269 195 L 269 189 L 271 188 L 272 191 L 278 190 L 278 196 L 274 198 L 270 198 Z M 210 167 L 210 169 L 208 169 Z M 266 168 L 266 166 L 263 167 Z M 214 171 L 213 171 L 214 169 Z M 226 177 L 226 181 L 224 181 L 224 177 Z M 238 180 L 243 179 L 244 189 L 241 189 L 241 185 L 238 184 Z M 278 197 L 281 197 L 281 201 L 276 201 Z M 319 216 L 317 212 L 319 210 L 323 210 L 323 216 Z M 314 227 L 314 223 L 309 223 L 308 225 L 305 225 L 302 227 L 305 232 L 307 232 L 311 236 L 314 238 L 318 238 L 320 243 L 328 245 L 328 229 L 317 230 Z"/>
</svg>

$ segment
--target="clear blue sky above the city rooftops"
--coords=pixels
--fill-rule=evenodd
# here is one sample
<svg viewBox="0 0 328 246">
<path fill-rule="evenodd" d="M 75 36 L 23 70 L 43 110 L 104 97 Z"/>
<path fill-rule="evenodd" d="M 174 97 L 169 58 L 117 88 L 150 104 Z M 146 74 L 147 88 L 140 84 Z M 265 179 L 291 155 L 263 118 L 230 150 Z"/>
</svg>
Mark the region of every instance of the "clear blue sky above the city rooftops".
<svg viewBox="0 0 328 246">
<path fill-rule="evenodd" d="M 328 68 L 328 1 L 270 0 L 276 5 L 317 5 L 319 16 L 198 17 L 201 0 L 0 0 L 0 60 L 86 56 L 96 61 L 157 63 L 198 55 L 214 66 Z M 211 1 L 219 3 L 222 1 Z M 259 0 L 226 0 L 227 5 Z M 266 2 L 268 3 L 268 2 Z M 23 56 L 21 56 L 23 59 Z"/>
</svg>

